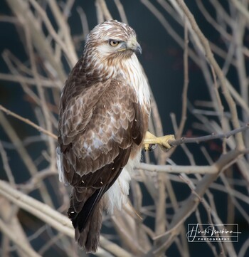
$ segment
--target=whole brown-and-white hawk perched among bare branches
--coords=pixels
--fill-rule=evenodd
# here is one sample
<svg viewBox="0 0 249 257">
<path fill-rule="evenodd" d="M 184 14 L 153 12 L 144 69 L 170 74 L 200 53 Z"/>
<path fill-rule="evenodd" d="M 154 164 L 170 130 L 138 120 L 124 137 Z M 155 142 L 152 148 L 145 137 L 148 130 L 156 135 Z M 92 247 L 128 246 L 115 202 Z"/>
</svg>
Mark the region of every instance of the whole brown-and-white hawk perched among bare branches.
<svg viewBox="0 0 249 257">
<path fill-rule="evenodd" d="M 169 148 L 172 139 L 157 140 L 147 132 L 149 87 L 136 53 L 142 48 L 130 26 L 113 20 L 98 24 L 60 97 L 59 179 L 73 186 L 68 217 L 75 241 L 87 252 L 99 246 L 102 210 L 112 214 L 127 200 L 144 137 L 146 147 Z"/>
</svg>

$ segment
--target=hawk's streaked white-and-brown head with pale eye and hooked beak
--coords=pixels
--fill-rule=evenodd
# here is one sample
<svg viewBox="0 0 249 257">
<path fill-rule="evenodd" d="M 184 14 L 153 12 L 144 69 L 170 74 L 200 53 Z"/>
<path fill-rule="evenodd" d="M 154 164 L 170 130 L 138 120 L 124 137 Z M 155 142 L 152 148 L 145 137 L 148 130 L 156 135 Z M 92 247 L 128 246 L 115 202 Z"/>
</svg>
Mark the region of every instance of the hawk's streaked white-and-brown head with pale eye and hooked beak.
<svg viewBox="0 0 249 257">
<path fill-rule="evenodd" d="M 90 31 L 85 43 L 85 56 L 112 61 L 142 53 L 133 28 L 119 21 L 105 21 Z M 116 60 L 117 61 L 117 60 Z"/>
</svg>

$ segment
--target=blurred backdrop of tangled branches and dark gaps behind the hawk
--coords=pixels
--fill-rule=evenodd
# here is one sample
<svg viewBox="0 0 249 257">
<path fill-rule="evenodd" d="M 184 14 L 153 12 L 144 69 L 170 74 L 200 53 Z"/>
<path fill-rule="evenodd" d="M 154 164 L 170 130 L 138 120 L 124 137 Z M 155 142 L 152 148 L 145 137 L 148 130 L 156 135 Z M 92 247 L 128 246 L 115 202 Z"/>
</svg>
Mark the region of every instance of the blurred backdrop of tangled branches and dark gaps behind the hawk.
<svg viewBox="0 0 249 257">
<path fill-rule="evenodd" d="M 177 3 L 174 0 L 1 1 L 0 105 L 56 135 L 63 83 L 83 53 L 85 36 L 97 23 L 111 16 L 129 23 L 142 46 L 143 52 L 138 58 L 154 95 L 152 132 L 174 134 L 180 138 L 233 130 L 233 115 L 223 95 L 221 79 L 216 76 L 217 70 L 208 64 L 205 47 Z M 228 91 L 236 104 L 239 125 L 243 127 L 249 120 L 249 3 L 247 0 L 188 0 L 185 3 L 208 39 L 226 84 L 229 82 Z M 189 56 L 185 63 L 184 53 Z M 185 111 L 186 115 L 182 115 Z M 65 214 L 70 189 L 58 183 L 56 141 L 8 112 L 0 111 L 0 142 L 0 179 Z M 243 144 L 248 150 L 248 132 L 243 133 Z M 238 147 L 235 137 L 208 140 L 181 145 L 167 153 L 156 149 L 144 154 L 143 161 L 189 166 L 191 171 L 194 166 L 211 165 L 235 147 Z M 130 210 L 128 214 L 117 213 L 116 217 L 104 216 L 102 235 L 131 256 L 247 256 L 248 155 L 240 156 L 240 159 L 235 157 L 227 164 L 221 176 L 204 184 L 206 189 L 200 199 L 206 203 L 201 202 L 197 209 L 189 209 L 189 214 L 183 214 L 181 231 L 177 230 L 174 239 L 161 238 L 159 241 L 154 238 L 174 228 L 171 221 L 188 203 L 194 188 L 204 181 L 204 175 L 179 177 L 180 172 L 160 173 L 138 167 L 130 201 L 142 221 L 137 221 L 134 211 L 130 215 Z M 193 183 L 192 188 L 188 182 Z M 160 196 L 158 202 L 157 196 Z M 85 256 L 83 251 L 78 251 L 73 238 L 63 235 L 36 215 L 19 209 L 18 204 L 6 201 L 1 191 L 0 201 L 0 219 L 8 226 L 10 217 L 16 217 L 18 231 L 23 231 L 21 240 L 28 241 L 40 256 Z M 160 203 L 164 206 L 161 214 Z M 241 232 L 238 242 L 187 241 L 188 224 L 211 222 L 238 224 Z M 125 226 L 131 229 L 129 240 L 122 232 Z M 229 228 L 235 231 L 234 226 Z M 0 235 L 0 256 L 27 256 L 22 255 L 19 246 L 1 230 Z M 168 242 L 166 246 L 164 240 Z M 106 250 L 105 246 L 101 247 Z M 160 251 L 154 253 L 158 249 Z M 98 254 L 108 256 L 107 252 Z"/>
</svg>

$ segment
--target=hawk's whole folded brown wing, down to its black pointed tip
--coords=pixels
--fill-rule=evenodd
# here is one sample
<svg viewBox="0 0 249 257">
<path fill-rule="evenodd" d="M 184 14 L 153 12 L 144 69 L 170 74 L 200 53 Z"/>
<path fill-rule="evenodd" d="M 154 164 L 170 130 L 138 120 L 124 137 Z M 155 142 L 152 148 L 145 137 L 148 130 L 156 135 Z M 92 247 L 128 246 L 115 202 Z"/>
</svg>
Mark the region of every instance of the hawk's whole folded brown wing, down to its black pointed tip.
<svg viewBox="0 0 249 257">
<path fill-rule="evenodd" d="M 79 61 L 63 90 L 58 144 L 65 178 L 75 187 L 68 213 L 80 232 L 143 134 L 134 90 L 117 80 L 86 83 Z"/>
</svg>

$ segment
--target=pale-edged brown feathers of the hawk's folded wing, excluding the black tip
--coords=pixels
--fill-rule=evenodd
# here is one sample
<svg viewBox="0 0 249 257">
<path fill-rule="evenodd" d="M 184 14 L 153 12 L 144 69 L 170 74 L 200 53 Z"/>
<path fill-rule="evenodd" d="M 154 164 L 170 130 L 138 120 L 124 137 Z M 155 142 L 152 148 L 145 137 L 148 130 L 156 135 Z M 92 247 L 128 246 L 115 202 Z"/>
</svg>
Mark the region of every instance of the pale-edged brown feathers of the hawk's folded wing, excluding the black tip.
<svg viewBox="0 0 249 257">
<path fill-rule="evenodd" d="M 65 177 L 73 186 L 100 188 L 127 163 L 132 143 L 142 142 L 142 113 L 132 88 L 117 80 L 79 93 L 59 122 Z"/>
</svg>

